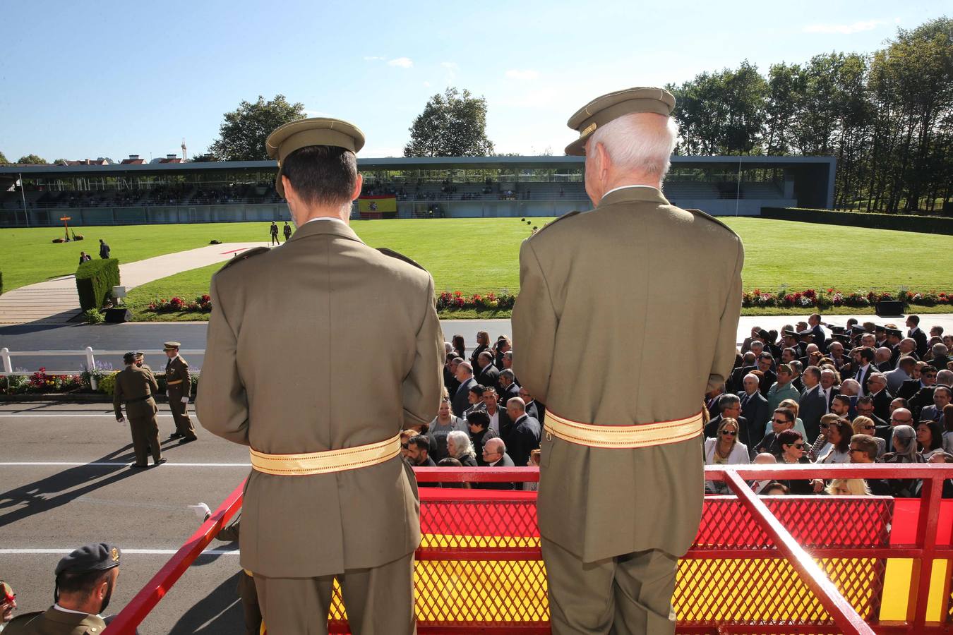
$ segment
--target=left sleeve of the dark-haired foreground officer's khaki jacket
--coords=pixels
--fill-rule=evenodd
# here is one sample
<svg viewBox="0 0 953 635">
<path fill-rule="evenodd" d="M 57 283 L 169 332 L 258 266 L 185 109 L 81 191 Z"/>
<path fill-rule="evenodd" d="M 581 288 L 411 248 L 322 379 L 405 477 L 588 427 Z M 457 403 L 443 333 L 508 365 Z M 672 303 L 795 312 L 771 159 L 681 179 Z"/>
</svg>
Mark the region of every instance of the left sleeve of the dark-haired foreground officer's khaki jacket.
<svg viewBox="0 0 953 635">
<path fill-rule="evenodd" d="M 238 339 L 219 301 L 215 278 L 209 295 L 212 313 L 195 414 L 202 427 L 213 434 L 248 446 L 248 395 L 238 375 Z"/>
</svg>

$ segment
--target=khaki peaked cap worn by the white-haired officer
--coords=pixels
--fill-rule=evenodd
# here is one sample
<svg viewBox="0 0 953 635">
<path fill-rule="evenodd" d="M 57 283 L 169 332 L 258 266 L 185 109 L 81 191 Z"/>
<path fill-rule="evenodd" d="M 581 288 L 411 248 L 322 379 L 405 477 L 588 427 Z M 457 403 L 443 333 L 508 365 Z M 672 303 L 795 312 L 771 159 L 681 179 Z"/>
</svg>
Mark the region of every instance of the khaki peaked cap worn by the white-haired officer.
<svg viewBox="0 0 953 635">
<path fill-rule="evenodd" d="M 634 112 L 655 112 L 666 117 L 675 109 L 675 96 L 666 89 L 637 88 L 610 92 L 576 111 L 566 125 L 578 130 L 579 138 L 566 146 L 566 154 L 583 156 L 586 140 L 599 126 Z"/>
</svg>

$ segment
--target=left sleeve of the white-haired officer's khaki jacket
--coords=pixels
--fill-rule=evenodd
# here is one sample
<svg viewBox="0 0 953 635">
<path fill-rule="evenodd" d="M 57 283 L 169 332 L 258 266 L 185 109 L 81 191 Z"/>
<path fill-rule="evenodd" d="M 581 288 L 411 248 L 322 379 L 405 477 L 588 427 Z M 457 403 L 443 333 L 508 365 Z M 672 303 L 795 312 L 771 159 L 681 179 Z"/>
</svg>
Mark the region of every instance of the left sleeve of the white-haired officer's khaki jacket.
<svg viewBox="0 0 953 635">
<path fill-rule="evenodd" d="M 558 320 L 549 285 L 528 240 L 519 248 L 519 296 L 512 323 L 513 370 L 533 398 L 545 404 Z"/>
</svg>

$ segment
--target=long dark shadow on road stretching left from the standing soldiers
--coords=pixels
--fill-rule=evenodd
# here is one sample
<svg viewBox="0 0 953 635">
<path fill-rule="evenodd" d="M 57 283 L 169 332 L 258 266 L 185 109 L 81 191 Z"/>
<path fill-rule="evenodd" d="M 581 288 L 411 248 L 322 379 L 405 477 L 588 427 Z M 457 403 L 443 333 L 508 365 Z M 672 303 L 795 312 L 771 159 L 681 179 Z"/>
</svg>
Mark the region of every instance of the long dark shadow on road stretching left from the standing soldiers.
<svg viewBox="0 0 953 635">
<path fill-rule="evenodd" d="M 115 461 L 114 465 L 70 467 L 39 481 L 0 493 L 0 510 L 17 507 L 0 515 L 0 527 L 67 505 L 100 487 L 135 476 L 138 471 L 126 465 L 133 458 L 131 450 L 132 444 L 128 444 L 91 462 Z"/>
</svg>

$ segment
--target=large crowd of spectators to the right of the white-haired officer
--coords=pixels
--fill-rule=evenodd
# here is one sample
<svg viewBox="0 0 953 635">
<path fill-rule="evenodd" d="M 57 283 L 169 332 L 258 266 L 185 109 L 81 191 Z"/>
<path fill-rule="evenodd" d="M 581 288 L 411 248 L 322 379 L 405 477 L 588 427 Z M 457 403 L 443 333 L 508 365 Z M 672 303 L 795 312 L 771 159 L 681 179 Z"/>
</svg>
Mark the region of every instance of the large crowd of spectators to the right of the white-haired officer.
<svg viewBox="0 0 953 635">
<path fill-rule="evenodd" d="M 706 465 L 953 463 L 953 337 L 920 318 L 781 334 L 754 327 L 723 387 L 706 395 Z M 919 497 L 916 479 L 756 482 L 758 493 Z M 726 493 L 708 482 L 710 493 Z M 943 484 L 953 497 L 953 480 Z"/>
</svg>

